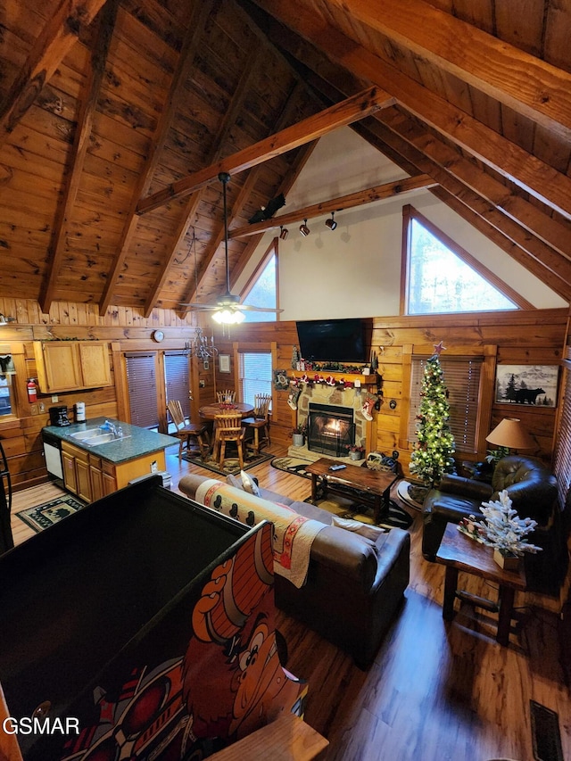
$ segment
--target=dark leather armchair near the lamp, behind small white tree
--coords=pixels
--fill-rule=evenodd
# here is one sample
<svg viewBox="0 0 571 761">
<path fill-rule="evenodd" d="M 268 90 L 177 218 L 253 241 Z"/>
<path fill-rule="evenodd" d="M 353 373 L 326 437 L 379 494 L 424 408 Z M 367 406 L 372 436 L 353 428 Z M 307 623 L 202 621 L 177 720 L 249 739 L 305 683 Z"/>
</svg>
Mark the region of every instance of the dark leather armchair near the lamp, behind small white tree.
<svg viewBox="0 0 571 761">
<path fill-rule="evenodd" d="M 492 475 L 492 484 L 460 476 L 445 475 L 438 488 L 431 489 L 423 505 L 422 552 L 434 560 L 448 522 L 463 517 L 482 517 L 483 502 L 496 500 L 506 490 L 520 517 L 531 517 L 537 528 L 530 542 L 541 552 L 525 553 L 528 589 L 555 591 L 567 570 L 567 550 L 557 505 L 557 481 L 542 463 L 531 457 L 510 455 L 501 459 Z"/>
</svg>

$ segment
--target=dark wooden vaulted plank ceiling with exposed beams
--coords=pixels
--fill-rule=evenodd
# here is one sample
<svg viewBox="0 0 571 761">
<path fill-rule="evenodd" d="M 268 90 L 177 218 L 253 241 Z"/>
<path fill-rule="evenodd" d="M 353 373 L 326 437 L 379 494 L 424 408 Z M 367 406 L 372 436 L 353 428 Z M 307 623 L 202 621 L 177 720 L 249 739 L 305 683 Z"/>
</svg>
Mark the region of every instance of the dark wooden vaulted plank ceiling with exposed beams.
<svg viewBox="0 0 571 761">
<path fill-rule="evenodd" d="M 352 128 L 571 300 L 568 0 L 4 0 L 0 294 L 184 313 Z M 303 219 L 407 186 L 324 198 Z"/>
</svg>

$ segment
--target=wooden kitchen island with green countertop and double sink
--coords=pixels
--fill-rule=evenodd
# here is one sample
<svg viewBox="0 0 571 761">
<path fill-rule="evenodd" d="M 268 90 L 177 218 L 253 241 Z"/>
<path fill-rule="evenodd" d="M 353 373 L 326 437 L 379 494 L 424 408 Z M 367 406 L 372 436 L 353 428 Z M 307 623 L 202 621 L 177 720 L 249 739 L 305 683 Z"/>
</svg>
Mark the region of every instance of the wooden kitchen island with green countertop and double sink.
<svg viewBox="0 0 571 761">
<path fill-rule="evenodd" d="M 95 435 L 109 421 L 122 436 Z M 110 433 L 101 430 L 101 434 Z M 85 434 L 85 436 L 83 435 Z M 91 437 L 89 437 L 89 434 Z M 65 488 L 87 502 L 127 486 L 139 476 L 166 469 L 164 451 L 178 446 L 178 439 L 158 434 L 139 426 L 131 426 L 114 418 L 93 418 L 70 426 L 46 426 L 44 441 L 59 445 L 62 450 L 62 477 Z M 93 439 L 94 443 L 89 443 Z"/>
</svg>

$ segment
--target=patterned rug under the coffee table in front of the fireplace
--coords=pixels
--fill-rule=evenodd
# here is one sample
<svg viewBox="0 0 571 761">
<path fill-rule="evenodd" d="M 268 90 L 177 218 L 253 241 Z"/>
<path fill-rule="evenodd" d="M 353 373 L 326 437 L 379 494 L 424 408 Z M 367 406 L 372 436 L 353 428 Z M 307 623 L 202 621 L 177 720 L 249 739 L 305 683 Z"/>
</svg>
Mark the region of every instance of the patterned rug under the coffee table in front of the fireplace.
<svg viewBox="0 0 571 761">
<path fill-rule="evenodd" d="M 302 476 L 302 478 L 310 478 L 311 475 L 305 470 L 305 467 L 310 465 L 310 462 L 305 459 L 299 459 L 295 457 L 277 457 L 271 461 L 272 467 L 277 467 L 277 470 L 285 470 L 287 473 L 292 473 L 294 476 Z M 311 502 L 310 499 L 305 500 Z M 365 502 L 360 500 L 360 492 L 351 487 L 347 487 L 347 495 L 339 494 L 327 494 L 327 498 L 319 497 L 314 502 L 319 508 L 327 510 L 330 513 L 338 517 L 349 518 L 351 520 L 359 520 L 361 523 L 373 524 L 373 509 L 368 507 Z M 409 513 L 399 507 L 396 502 L 390 500 L 389 512 L 387 516 L 382 517 L 381 521 L 377 525 L 386 526 L 390 528 L 397 526 L 398 528 L 409 528 L 412 524 L 413 518 Z"/>
</svg>

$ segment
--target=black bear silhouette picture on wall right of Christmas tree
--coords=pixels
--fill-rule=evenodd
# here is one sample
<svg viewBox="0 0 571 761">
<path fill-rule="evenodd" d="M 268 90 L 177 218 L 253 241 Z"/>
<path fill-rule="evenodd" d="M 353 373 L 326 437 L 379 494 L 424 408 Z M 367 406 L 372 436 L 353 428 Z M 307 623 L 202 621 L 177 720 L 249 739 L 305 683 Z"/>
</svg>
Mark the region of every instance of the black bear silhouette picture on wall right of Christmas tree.
<svg viewBox="0 0 571 761">
<path fill-rule="evenodd" d="M 495 401 L 555 407 L 558 380 L 557 365 L 498 365 Z"/>
</svg>

